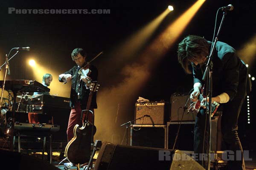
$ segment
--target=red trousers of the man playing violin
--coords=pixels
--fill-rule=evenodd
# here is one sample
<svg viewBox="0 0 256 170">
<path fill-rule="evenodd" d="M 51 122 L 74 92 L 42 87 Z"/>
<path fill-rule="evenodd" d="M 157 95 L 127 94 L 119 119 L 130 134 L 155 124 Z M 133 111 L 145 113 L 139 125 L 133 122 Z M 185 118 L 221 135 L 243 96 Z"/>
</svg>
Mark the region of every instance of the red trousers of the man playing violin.
<svg viewBox="0 0 256 170">
<path fill-rule="evenodd" d="M 93 109 L 90 109 L 91 111 L 93 111 L 94 113 L 94 110 Z M 67 126 L 67 142 L 69 142 L 73 137 L 74 137 L 74 127 L 76 126 L 76 124 L 79 125 L 79 127 L 81 127 L 81 105 L 80 105 L 80 102 L 76 102 L 75 103 L 75 108 L 72 108 L 71 111 L 70 111 L 70 117 L 69 117 L 69 121 L 68 121 L 68 126 Z M 93 122 L 93 115 L 92 113 L 90 112 L 85 112 L 84 111 L 84 114 L 83 114 L 83 119 L 82 119 L 82 122 L 84 122 L 84 117 L 87 116 L 86 113 L 89 113 L 89 121 L 90 122 Z"/>
</svg>

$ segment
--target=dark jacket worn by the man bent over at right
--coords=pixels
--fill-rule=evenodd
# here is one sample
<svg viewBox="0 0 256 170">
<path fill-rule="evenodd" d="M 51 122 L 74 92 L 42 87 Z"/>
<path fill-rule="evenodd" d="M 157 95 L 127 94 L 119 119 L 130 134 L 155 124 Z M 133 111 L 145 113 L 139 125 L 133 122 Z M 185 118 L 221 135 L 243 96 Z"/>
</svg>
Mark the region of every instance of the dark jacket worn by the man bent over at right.
<svg viewBox="0 0 256 170">
<path fill-rule="evenodd" d="M 225 92 L 232 101 L 235 97 L 243 98 L 250 92 L 247 67 L 234 48 L 224 42 L 217 42 L 212 63 L 212 97 Z M 199 65 L 193 65 L 194 83 L 201 82 L 204 70 L 204 66 L 200 68 Z M 204 82 L 201 84 L 204 85 Z"/>
</svg>

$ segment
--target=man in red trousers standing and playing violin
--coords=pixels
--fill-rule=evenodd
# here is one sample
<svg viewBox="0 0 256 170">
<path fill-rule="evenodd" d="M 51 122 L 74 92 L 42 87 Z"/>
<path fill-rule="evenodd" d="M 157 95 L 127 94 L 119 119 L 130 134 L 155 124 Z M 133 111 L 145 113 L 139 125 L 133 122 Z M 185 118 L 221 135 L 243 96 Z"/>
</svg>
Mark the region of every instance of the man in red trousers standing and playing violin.
<svg viewBox="0 0 256 170">
<path fill-rule="evenodd" d="M 73 129 L 76 124 L 80 123 L 81 111 L 86 109 L 88 97 L 90 94 L 90 83 L 97 81 L 98 70 L 93 65 L 87 65 L 86 53 L 82 48 L 75 48 L 71 53 L 73 61 L 76 66 L 71 68 L 64 74 L 59 75 L 60 82 L 72 82 L 70 91 L 70 117 L 67 127 L 67 140 L 68 142 L 73 138 Z M 87 75 L 84 75 L 81 69 L 89 70 Z M 90 110 L 97 108 L 96 93 L 94 94 L 90 106 Z M 93 111 L 94 112 L 94 111 Z M 85 115 L 83 115 L 85 116 Z M 89 121 L 92 122 L 92 115 L 89 115 Z"/>
</svg>

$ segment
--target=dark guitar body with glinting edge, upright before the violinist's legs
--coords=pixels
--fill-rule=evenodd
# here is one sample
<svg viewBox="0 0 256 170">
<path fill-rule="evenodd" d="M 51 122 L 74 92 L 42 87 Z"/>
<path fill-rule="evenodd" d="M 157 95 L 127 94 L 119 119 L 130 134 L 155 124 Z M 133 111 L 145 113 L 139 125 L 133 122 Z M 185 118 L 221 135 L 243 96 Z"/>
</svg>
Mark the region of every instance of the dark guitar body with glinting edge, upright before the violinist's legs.
<svg viewBox="0 0 256 170">
<path fill-rule="evenodd" d="M 96 127 L 90 122 L 82 127 L 79 125 L 74 127 L 74 137 L 65 148 L 65 155 L 73 164 L 84 164 L 90 160 L 92 127 L 95 134 Z"/>
</svg>

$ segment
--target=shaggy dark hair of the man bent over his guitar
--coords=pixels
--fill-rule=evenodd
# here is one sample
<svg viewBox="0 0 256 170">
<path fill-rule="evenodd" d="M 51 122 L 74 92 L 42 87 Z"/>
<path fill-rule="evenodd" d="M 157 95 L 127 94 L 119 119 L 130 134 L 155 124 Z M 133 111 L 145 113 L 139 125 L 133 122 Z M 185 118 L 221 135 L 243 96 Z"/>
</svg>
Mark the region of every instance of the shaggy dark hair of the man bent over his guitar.
<svg viewBox="0 0 256 170">
<path fill-rule="evenodd" d="M 204 37 L 189 35 L 179 43 L 177 54 L 178 62 L 181 64 L 182 68 L 186 73 L 191 74 L 189 61 L 200 56 L 208 56 L 209 44 Z"/>
</svg>

